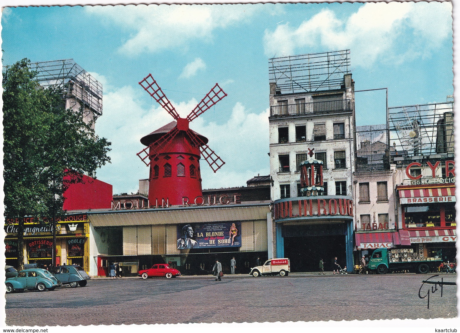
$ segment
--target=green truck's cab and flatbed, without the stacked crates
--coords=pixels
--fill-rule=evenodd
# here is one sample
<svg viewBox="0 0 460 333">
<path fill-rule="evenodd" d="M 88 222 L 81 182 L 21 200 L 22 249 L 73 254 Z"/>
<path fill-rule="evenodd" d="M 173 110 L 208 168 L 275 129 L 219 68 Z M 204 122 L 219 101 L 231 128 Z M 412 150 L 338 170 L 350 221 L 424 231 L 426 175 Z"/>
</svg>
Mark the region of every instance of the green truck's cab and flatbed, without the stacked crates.
<svg viewBox="0 0 460 333">
<path fill-rule="evenodd" d="M 438 267 L 442 260 L 411 260 L 395 262 L 394 258 L 389 258 L 391 253 L 388 249 L 382 248 L 375 250 L 369 259 L 368 270 L 376 271 L 377 274 L 386 274 L 388 270 L 409 270 L 411 272 L 426 274 L 434 267 Z M 408 260 L 406 258 L 406 260 Z"/>
</svg>

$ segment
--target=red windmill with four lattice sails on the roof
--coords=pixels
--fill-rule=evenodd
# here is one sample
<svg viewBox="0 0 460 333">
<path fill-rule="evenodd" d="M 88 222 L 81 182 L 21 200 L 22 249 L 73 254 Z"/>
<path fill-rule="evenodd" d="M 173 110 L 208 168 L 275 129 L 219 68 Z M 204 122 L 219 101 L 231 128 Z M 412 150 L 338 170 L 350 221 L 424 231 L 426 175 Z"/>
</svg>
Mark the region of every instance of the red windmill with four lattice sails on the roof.
<svg viewBox="0 0 460 333">
<path fill-rule="evenodd" d="M 197 200 L 201 205 L 201 198 L 196 199 L 202 197 L 200 154 L 214 172 L 225 162 L 209 148 L 206 137 L 189 128 L 189 123 L 227 94 L 216 83 L 190 115 L 181 118 L 151 74 L 139 84 L 175 120 L 141 138 L 141 143 L 147 147 L 137 155 L 150 165 L 150 206 L 161 206 L 167 201 L 170 205 L 182 205 L 183 197 L 189 198 L 190 203 Z"/>
</svg>

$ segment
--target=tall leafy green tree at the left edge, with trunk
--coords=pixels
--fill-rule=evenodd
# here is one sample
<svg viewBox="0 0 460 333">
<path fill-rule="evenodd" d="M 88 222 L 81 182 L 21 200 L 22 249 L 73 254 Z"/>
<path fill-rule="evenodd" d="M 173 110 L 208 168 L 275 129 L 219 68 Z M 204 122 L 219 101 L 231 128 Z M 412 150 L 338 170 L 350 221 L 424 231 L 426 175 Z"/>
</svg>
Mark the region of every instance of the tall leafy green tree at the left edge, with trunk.
<svg viewBox="0 0 460 333">
<path fill-rule="evenodd" d="M 83 121 L 82 111 L 65 109 L 63 89 L 40 86 L 29 64 L 6 66 L 2 81 L 5 217 L 18 219 L 20 269 L 23 217 L 62 215 L 69 185 L 110 162 L 110 143 Z"/>
</svg>

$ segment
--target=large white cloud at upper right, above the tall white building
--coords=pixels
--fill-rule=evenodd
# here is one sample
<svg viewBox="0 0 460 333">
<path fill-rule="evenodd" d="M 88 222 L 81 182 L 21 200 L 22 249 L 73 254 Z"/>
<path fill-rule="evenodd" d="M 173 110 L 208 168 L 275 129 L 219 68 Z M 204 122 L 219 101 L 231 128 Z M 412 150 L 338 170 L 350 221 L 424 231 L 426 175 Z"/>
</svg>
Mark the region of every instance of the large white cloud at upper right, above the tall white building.
<svg viewBox="0 0 460 333">
<path fill-rule="evenodd" d="M 392 48 L 404 34 L 413 34 L 417 42 L 404 46 L 407 52 L 397 52 L 418 57 L 420 50 L 430 52 L 452 34 L 451 13 L 450 2 L 366 3 L 344 19 L 325 9 L 297 28 L 285 23 L 274 31 L 266 30 L 265 53 L 279 57 L 308 53 L 318 46 L 327 50 L 349 48 L 354 64 L 369 66 L 377 59 L 393 58 Z"/>
</svg>

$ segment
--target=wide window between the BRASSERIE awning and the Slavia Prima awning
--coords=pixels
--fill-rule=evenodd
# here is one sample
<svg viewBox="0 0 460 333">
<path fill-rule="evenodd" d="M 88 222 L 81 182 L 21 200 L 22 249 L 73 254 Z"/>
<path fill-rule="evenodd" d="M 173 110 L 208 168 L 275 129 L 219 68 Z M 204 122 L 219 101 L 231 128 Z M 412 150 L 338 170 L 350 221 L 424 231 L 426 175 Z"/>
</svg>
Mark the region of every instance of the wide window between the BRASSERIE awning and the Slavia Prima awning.
<svg viewBox="0 0 460 333">
<path fill-rule="evenodd" d="M 438 204 L 404 207 L 404 223 L 408 228 L 440 227 L 441 207 Z"/>
</svg>

